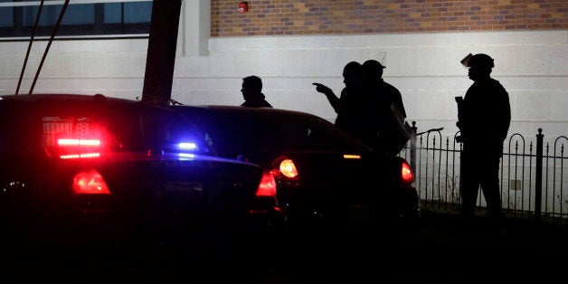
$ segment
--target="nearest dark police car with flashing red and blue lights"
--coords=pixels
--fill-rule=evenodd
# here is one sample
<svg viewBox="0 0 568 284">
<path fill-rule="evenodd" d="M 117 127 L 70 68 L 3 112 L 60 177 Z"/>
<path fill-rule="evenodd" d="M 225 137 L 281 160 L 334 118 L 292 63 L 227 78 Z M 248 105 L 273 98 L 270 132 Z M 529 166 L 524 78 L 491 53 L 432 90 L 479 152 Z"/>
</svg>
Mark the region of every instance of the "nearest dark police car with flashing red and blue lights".
<svg viewBox="0 0 568 284">
<path fill-rule="evenodd" d="M 166 107 L 103 95 L 5 95 L 0 119 L 6 232 L 76 227 L 118 235 L 285 221 L 268 172 L 214 156 Z"/>
</svg>

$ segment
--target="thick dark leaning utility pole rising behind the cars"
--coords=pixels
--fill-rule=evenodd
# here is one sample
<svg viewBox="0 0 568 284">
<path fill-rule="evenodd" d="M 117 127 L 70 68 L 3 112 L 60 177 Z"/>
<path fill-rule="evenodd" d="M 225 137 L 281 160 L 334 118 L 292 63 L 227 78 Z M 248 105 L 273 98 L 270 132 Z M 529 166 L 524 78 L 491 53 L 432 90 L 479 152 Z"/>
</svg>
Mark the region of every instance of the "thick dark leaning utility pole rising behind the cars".
<svg viewBox="0 0 568 284">
<path fill-rule="evenodd" d="M 167 105 L 172 96 L 182 0 L 154 0 L 142 101 Z"/>
</svg>

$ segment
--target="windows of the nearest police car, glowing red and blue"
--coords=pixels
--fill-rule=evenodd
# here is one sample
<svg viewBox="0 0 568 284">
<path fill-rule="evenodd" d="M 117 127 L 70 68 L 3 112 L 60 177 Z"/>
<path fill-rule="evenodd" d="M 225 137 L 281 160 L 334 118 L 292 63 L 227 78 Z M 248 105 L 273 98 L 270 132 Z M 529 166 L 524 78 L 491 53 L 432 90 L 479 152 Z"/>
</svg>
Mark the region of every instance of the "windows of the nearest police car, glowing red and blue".
<svg viewBox="0 0 568 284">
<path fill-rule="evenodd" d="M 61 143 L 96 144 L 112 151 L 180 151 L 193 145 L 194 154 L 210 153 L 196 128 L 166 109 L 122 108 L 91 104 L 43 105 L 39 108 L 7 108 L 0 115 L 0 154 L 33 155 L 57 152 Z M 63 141 L 63 142 L 62 142 Z M 42 150 L 43 149 L 43 150 Z M 184 150 L 184 151 L 185 151 Z"/>
</svg>

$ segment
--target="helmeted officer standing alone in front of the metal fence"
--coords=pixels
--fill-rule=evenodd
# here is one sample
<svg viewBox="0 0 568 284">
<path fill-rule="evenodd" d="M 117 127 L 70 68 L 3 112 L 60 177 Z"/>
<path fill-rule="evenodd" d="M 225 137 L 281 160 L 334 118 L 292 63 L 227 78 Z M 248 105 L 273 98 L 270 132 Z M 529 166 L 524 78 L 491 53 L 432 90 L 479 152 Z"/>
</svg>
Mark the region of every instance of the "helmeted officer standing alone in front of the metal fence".
<svg viewBox="0 0 568 284">
<path fill-rule="evenodd" d="M 491 229 L 503 232 L 499 190 L 499 160 L 511 122 L 509 96 L 498 80 L 490 78 L 493 59 L 487 54 L 469 54 L 462 64 L 469 68 L 473 84 L 458 101 L 461 152 L 461 215 L 469 226 L 476 210 L 479 186 L 483 190 Z"/>
</svg>

